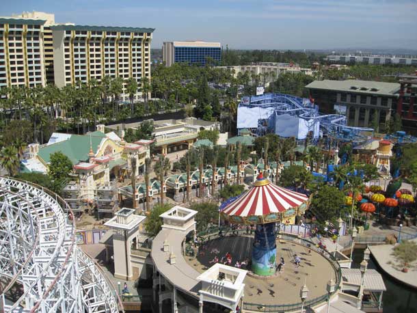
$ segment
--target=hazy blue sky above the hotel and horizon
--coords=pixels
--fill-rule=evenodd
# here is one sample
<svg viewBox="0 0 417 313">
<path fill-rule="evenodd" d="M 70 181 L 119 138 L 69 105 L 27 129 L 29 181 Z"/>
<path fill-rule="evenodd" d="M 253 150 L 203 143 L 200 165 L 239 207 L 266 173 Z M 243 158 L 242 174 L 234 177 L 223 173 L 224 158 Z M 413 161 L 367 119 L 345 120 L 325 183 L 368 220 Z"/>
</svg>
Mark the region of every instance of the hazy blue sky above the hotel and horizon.
<svg viewBox="0 0 417 313">
<path fill-rule="evenodd" d="M 77 25 L 151 27 L 230 49 L 417 49 L 417 0 L 0 0 L 0 16 L 55 14 Z"/>
</svg>

